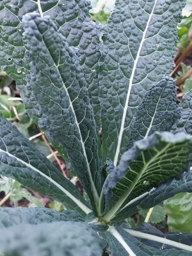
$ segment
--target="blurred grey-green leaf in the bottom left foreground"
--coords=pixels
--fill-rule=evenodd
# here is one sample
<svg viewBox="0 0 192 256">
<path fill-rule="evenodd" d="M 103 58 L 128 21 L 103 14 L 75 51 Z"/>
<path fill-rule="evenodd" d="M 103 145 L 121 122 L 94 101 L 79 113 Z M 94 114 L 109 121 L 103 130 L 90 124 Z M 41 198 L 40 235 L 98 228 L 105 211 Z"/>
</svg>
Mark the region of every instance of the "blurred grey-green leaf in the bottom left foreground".
<svg viewBox="0 0 192 256">
<path fill-rule="evenodd" d="M 1 232 L 0 253 L 9 256 L 100 256 L 105 246 L 92 227 L 77 221 L 21 224 Z"/>
</svg>

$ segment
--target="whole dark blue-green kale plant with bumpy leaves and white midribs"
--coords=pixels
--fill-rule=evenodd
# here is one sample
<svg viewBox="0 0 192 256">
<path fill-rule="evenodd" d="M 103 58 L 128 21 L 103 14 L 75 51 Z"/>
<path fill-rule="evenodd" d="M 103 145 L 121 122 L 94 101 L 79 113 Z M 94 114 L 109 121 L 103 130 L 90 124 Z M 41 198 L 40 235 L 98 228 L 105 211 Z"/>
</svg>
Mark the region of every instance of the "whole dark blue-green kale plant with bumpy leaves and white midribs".
<svg viewBox="0 0 192 256">
<path fill-rule="evenodd" d="M 88 0 L 2 0 L 0 63 L 84 195 L 0 120 L 0 174 L 58 200 L 61 213 L 0 210 L 3 255 L 191 255 L 192 234 L 127 218 L 192 191 L 192 92 L 169 74 L 183 0 L 116 0 L 108 24 Z"/>
</svg>

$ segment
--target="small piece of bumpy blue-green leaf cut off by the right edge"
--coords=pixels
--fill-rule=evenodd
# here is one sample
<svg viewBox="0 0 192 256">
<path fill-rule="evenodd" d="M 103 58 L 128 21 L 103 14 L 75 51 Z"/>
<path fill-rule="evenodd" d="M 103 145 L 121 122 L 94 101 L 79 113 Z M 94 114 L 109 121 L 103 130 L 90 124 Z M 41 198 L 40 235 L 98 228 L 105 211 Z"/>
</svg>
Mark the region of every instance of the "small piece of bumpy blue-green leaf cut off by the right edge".
<svg viewBox="0 0 192 256">
<path fill-rule="evenodd" d="M 184 95 L 179 105 L 182 108 L 182 113 L 176 124 L 173 125 L 173 132 L 182 131 L 192 134 L 192 90 Z"/>
</svg>

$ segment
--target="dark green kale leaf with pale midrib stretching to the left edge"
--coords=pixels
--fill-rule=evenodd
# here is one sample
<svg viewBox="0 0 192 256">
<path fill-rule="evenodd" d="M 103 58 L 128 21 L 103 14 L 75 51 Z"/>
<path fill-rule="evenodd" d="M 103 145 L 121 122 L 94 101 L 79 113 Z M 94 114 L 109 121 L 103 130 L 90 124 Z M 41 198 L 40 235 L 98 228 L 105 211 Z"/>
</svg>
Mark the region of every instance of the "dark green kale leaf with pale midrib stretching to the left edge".
<svg viewBox="0 0 192 256">
<path fill-rule="evenodd" d="M 11 177 L 81 214 L 92 211 L 76 186 L 63 177 L 15 125 L 0 116 L 0 127 L 0 175 Z"/>
</svg>

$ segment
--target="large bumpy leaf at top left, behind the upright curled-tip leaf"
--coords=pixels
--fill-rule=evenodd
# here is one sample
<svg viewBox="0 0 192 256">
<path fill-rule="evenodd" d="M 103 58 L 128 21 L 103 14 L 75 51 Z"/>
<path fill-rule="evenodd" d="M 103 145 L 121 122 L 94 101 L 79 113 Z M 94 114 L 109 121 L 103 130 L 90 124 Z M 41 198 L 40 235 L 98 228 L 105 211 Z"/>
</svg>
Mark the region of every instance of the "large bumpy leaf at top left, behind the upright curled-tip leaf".
<svg viewBox="0 0 192 256">
<path fill-rule="evenodd" d="M 77 55 L 83 67 L 84 77 L 90 92 L 93 94 L 93 104 L 98 104 L 97 69 L 100 56 L 99 22 L 90 20 L 90 1 L 87 0 L 3 0 L 0 3 L 0 62 L 6 72 L 15 79 L 22 90 L 26 84 L 26 74 L 29 68 L 24 68 L 23 58 L 26 48 L 23 44 L 22 17 L 26 13 L 39 12 L 42 16 L 49 15 L 56 24 L 61 35 L 65 36 L 70 46 L 77 47 Z M 28 100 L 26 100 L 28 106 Z M 30 102 L 31 104 L 31 102 Z M 38 104 L 33 102 L 38 109 Z M 95 108 L 95 112 L 98 109 Z M 29 111 L 35 118 L 35 111 Z"/>
</svg>

